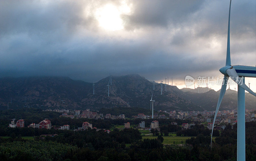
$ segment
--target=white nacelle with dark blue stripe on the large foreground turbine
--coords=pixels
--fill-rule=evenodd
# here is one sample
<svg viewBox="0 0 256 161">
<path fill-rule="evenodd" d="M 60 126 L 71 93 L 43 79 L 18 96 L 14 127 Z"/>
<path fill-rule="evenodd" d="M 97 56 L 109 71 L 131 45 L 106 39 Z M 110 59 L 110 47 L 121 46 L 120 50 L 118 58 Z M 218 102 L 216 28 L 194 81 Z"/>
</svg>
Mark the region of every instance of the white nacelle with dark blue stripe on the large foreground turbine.
<svg viewBox="0 0 256 161">
<path fill-rule="evenodd" d="M 233 66 L 235 68 L 236 73 L 240 77 L 256 77 L 256 67 L 250 66 Z"/>
</svg>

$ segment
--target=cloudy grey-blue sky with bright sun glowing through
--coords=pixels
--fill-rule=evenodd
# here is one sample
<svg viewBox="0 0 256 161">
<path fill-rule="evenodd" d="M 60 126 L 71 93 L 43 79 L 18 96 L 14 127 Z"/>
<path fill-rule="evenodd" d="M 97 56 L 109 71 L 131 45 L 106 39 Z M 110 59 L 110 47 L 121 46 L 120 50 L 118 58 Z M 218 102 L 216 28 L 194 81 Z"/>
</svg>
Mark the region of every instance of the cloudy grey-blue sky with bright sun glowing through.
<svg viewBox="0 0 256 161">
<path fill-rule="evenodd" d="M 186 75 L 222 76 L 228 0 L 0 3 L 0 77 L 95 82 L 109 74 L 140 74 L 156 81 L 173 77 L 182 88 Z M 230 46 L 232 65 L 256 65 L 255 0 L 232 1 Z M 249 80 L 255 92 L 256 79 Z"/>
</svg>

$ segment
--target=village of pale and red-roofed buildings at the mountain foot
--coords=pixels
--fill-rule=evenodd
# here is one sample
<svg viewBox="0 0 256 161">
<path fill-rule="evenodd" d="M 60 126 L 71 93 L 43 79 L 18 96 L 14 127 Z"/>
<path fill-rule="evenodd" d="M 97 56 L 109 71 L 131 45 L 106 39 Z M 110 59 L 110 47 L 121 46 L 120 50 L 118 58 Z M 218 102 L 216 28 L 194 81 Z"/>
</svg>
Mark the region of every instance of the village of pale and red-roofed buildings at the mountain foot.
<svg viewBox="0 0 256 161">
<path fill-rule="evenodd" d="M 124 114 L 120 115 L 111 115 L 111 114 L 106 114 L 103 115 L 102 113 L 98 114 L 97 112 L 92 112 L 90 109 L 86 110 L 68 110 L 68 109 L 46 109 L 46 111 L 55 111 L 61 113 L 60 117 L 68 117 L 71 119 L 80 119 L 80 118 L 87 118 L 87 119 L 150 119 L 152 116 L 150 115 L 144 115 L 143 113 L 139 113 L 138 115 L 133 115 L 132 118 L 125 118 Z M 250 122 L 254 121 L 256 114 L 252 113 L 253 110 L 245 110 L 245 121 Z M 162 115 L 159 115 L 159 113 L 164 113 Z M 145 126 L 145 121 L 141 121 L 137 125 L 133 125 L 133 128 L 138 128 L 138 129 L 158 129 L 159 130 L 159 122 L 157 119 L 181 119 L 181 120 L 192 120 L 194 123 L 182 123 L 179 126 L 182 127 L 182 129 L 190 129 L 193 126 L 195 126 L 196 123 L 203 124 L 205 128 L 207 129 L 212 129 L 212 122 L 213 122 L 213 116 L 215 114 L 215 111 L 178 111 L 176 112 L 175 110 L 167 112 L 167 111 L 161 111 L 159 110 L 158 113 L 154 114 L 154 121 L 150 123 L 150 126 L 146 127 Z M 15 127 L 24 127 L 24 121 L 25 119 L 19 119 L 15 123 L 15 119 L 12 119 L 11 123 L 9 123 L 8 127 L 15 128 Z M 234 125 L 237 123 L 237 111 L 236 110 L 223 110 L 219 111 L 215 120 L 216 124 L 214 126 L 214 129 L 225 129 L 227 124 Z M 171 122 L 172 125 L 178 125 L 177 122 Z M 219 124 L 219 125 L 218 125 Z M 70 126 L 68 124 L 66 125 L 59 125 L 59 126 L 53 126 L 51 124 L 51 121 L 47 118 L 42 120 L 39 123 L 30 123 L 28 127 L 32 128 L 45 128 L 45 129 L 60 129 L 60 130 L 71 130 Z M 123 127 L 120 129 L 124 128 L 130 128 L 130 122 L 124 123 Z M 101 130 L 97 129 L 97 127 L 93 126 L 92 123 L 89 122 L 83 122 L 80 127 L 77 127 L 77 129 L 72 129 L 74 131 L 77 130 L 85 130 L 85 129 L 95 129 L 96 131 Z M 103 129 L 105 132 L 109 133 L 109 129 Z"/>
</svg>

